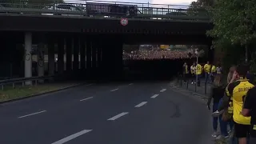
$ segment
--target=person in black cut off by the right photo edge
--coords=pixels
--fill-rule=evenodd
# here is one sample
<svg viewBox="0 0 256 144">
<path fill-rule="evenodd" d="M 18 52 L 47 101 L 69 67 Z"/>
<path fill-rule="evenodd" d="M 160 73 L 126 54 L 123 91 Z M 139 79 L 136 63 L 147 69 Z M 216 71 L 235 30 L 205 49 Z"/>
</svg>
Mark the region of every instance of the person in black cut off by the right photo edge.
<svg viewBox="0 0 256 144">
<path fill-rule="evenodd" d="M 256 143 L 256 87 L 250 89 L 246 94 L 242 109 L 242 115 L 250 117 L 250 144 Z"/>
</svg>

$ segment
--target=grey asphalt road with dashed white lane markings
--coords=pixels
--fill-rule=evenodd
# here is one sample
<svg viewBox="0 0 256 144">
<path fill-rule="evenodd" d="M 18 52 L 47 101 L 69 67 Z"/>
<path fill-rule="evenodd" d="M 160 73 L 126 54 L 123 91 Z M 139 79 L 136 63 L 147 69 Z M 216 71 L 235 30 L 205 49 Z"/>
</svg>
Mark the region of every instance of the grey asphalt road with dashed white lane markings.
<svg viewBox="0 0 256 144">
<path fill-rule="evenodd" d="M 212 144 L 210 120 L 169 82 L 92 84 L 0 106 L 0 143 Z"/>
</svg>

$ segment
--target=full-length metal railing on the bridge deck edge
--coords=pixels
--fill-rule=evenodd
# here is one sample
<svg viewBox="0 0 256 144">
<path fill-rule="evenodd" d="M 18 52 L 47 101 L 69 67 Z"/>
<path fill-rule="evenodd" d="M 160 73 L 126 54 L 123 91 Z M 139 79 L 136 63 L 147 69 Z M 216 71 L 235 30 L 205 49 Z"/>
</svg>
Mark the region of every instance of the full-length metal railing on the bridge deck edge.
<svg viewBox="0 0 256 144">
<path fill-rule="evenodd" d="M 75 0 L 65 2 L 0 0 L 0 13 L 79 16 L 84 18 L 210 19 L 206 10 L 192 9 L 190 6 Z"/>
</svg>

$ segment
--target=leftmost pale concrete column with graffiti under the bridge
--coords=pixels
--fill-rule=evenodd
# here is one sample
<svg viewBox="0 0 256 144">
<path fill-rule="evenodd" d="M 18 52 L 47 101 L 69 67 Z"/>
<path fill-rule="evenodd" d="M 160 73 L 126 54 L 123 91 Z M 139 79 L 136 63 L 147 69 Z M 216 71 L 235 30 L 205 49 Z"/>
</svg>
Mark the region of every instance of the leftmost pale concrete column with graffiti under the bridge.
<svg viewBox="0 0 256 144">
<path fill-rule="evenodd" d="M 25 33 L 25 78 L 32 77 L 32 33 Z M 26 82 L 26 85 L 32 85 L 32 82 Z"/>
</svg>

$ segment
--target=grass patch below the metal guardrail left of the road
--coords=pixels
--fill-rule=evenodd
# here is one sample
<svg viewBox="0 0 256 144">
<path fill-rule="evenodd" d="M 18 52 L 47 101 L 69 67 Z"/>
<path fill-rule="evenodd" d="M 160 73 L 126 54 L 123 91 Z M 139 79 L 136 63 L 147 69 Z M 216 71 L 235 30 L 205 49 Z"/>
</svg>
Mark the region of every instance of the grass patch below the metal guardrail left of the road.
<svg viewBox="0 0 256 144">
<path fill-rule="evenodd" d="M 58 90 L 63 85 L 38 85 L 38 86 L 18 86 L 13 89 L 12 86 L 5 86 L 0 90 L 0 102 L 15 98 L 30 97 L 34 94 L 42 94 L 52 90 Z"/>
</svg>

